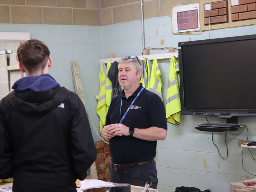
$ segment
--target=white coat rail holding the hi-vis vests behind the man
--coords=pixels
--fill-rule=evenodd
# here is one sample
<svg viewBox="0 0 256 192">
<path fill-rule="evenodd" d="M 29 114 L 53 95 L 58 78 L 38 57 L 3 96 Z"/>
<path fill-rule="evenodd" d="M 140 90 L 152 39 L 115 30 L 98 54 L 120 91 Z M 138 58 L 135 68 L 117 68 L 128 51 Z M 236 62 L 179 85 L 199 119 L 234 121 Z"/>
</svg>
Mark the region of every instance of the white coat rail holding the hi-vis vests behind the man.
<svg viewBox="0 0 256 192">
<path fill-rule="evenodd" d="M 149 60 L 153 59 L 170 59 L 172 56 L 178 57 L 178 52 L 172 52 L 172 53 L 160 53 L 160 54 L 152 54 L 152 55 L 139 55 L 137 56 L 140 60 L 145 60 L 145 58 Z M 116 58 L 108 58 L 108 59 L 100 59 L 100 63 L 113 63 L 114 61 L 119 61 L 121 57 L 116 57 Z"/>
</svg>

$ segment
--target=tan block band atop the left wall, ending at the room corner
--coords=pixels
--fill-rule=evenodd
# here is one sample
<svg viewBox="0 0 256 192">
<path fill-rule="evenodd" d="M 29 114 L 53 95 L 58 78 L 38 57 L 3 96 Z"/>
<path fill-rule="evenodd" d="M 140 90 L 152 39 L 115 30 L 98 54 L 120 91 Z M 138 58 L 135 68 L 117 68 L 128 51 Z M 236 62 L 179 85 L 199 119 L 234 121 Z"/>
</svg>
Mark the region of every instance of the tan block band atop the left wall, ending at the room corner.
<svg viewBox="0 0 256 192">
<path fill-rule="evenodd" d="M 1 0 L 0 23 L 100 25 L 100 0 Z"/>
</svg>

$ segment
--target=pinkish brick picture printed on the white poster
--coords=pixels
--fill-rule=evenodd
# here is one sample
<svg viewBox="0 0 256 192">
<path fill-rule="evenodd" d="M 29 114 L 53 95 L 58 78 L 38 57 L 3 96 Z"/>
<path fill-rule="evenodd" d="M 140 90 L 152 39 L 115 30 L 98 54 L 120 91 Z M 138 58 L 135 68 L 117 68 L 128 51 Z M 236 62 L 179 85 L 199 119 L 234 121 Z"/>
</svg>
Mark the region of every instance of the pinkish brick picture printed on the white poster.
<svg viewBox="0 0 256 192">
<path fill-rule="evenodd" d="M 178 12 L 178 30 L 198 28 L 197 10 Z"/>
</svg>

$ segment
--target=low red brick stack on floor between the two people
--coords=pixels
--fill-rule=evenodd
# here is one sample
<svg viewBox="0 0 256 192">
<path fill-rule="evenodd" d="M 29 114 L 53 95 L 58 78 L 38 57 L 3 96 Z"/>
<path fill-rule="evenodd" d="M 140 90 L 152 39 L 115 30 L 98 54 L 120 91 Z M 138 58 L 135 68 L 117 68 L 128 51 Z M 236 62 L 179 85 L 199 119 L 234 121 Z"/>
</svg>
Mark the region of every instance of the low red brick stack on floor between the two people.
<svg viewBox="0 0 256 192">
<path fill-rule="evenodd" d="M 97 149 L 97 159 L 95 160 L 98 179 L 103 181 L 110 181 L 110 173 L 108 168 L 111 166 L 111 155 L 108 144 L 104 141 L 95 142 Z"/>
</svg>

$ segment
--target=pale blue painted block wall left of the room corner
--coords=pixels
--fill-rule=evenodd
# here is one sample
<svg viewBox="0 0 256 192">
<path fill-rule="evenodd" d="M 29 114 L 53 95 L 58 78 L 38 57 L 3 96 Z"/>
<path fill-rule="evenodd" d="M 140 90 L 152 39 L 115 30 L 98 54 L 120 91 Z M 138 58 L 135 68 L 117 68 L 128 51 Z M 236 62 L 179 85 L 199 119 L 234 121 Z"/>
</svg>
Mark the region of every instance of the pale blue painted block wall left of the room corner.
<svg viewBox="0 0 256 192">
<path fill-rule="evenodd" d="M 49 47 L 50 56 L 53 59 L 52 68 L 49 70 L 50 75 L 52 75 L 61 86 L 65 86 L 68 90 L 73 92 L 75 92 L 75 88 L 71 71 L 71 61 L 75 60 L 78 62 L 84 90 L 86 111 L 92 119 L 92 123 L 90 121 L 92 134 L 94 141 L 99 141 L 100 138 L 96 134 L 93 125 L 97 132 L 99 132 L 99 117 L 95 112 L 97 106 L 95 94 L 99 91 L 99 59 L 102 58 L 101 27 L 0 24 L 0 31 L 29 32 L 30 38 L 43 41 Z M 1 51 L 6 48 L 4 45 L 5 44 L 0 43 Z M 14 48 L 16 49 L 17 46 L 18 45 L 15 45 Z M 11 49 L 11 47 L 9 48 Z M 4 56 L 0 57 L 1 65 L 2 60 L 5 61 Z M 16 58 L 14 58 L 14 60 L 16 60 Z M 5 69 L 5 67 L 0 66 L 0 70 L 1 68 Z M 17 73 L 19 73 L 19 71 L 17 71 Z M 16 80 L 12 79 L 12 81 L 14 82 Z M 7 81 L 4 83 L 6 84 Z M 6 92 L 4 92 L 4 89 L 0 89 L 0 95 L 2 97 L 6 95 Z"/>
</svg>

